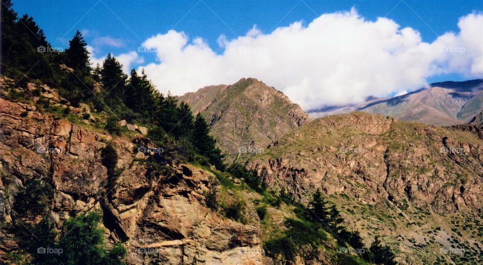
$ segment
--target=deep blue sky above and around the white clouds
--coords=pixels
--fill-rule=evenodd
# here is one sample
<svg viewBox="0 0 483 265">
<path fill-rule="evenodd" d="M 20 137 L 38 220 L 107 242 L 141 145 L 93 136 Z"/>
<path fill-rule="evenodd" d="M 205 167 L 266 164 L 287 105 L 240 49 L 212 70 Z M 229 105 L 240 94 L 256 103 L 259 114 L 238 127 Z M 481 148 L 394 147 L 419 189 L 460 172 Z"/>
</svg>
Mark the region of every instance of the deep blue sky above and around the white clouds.
<svg viewBox="0 0 483 265">
<path fill-rule="evenodd" d="M 136 51 L 146 39 L 169 30 L 184 32 L 190 41 L 201 37 L 216 54 L 220 35 L 233 40 L 254 25 L 263 34 L 301 21 L 307 26 L 323 14 L 355 8 L 367 21 L 386 17 L 400 28 L 411 27 L 423 42 L 432 43 L 446 32 L 457 32 L 458 19 L 483 11 L 482 1 L 27 1 L 13 0 L 14 9 L 29 14 L 44 29 L 54 47 L 68 45 L 81 30 L 97 57 Z M 483 44 L 482 44 L 483 45 Z M 483 49 L 483 47 L 482 47 Z M 143 64 L 159 62 L 156 54 L 142 54 Z M 468 79 L 460 73 L 432 74 L 427 81 Z M 200 85 L 201 86 L 201 85 Z M 409 89 L 409 87 L 408 87 Z M 391 92 L 392 94 L 397 91 Z M 398 91 L 400 92 L 400 90 Z"/>
</svg>

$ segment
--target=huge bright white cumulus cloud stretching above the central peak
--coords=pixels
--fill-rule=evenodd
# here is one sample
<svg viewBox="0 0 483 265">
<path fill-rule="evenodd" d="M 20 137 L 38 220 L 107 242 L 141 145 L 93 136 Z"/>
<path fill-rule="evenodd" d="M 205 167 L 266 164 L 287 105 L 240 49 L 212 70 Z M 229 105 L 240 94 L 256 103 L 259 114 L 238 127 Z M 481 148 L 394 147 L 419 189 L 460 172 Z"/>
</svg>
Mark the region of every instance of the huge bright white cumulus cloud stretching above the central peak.
<svg viewBox="0 0 483 265">
<path fill-rule="evenodd" d="M 303 109 L 315 110 L 401 94 L 436 74 L 482 75 L 483 16 L 462 17 L 458 27 L 459 32 L 427 43 L 415 29 L 386 18 L 368 21 L 352 9 L 268 34 L 254 26 L 236 39 L 220 36 L 222 54 L 201 38 L 170 30 L 142 44 L 158 59 L 142 68 L 165 94 L 182 95 L 205 85 L 255 77 Z M 132 60 L 134 54 L 130 56 Z"/>
</svg>

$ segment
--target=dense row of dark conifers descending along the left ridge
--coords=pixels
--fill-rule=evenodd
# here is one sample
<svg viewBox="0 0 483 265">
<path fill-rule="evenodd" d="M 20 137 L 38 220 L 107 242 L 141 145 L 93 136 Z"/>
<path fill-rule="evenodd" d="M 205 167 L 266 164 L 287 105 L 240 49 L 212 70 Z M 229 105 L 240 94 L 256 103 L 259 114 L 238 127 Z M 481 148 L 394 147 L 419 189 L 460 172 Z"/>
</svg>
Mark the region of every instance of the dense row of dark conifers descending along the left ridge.
<svg viewBox="0 0 483 265">
<path fill-rule="evenodd" d="M 81 32 L 69 40 L 65 51 L 53 49 L 32 17 L 17 17 L 11 0 L 2 1 L 1 13 L 2 75 L 20 80 L 18 86 L 40 80 L 57 89 L 72 106 L 85 103 L 106 112 L 105 128 L 110 133 L 120 134 L 119 120 L 142 124 L 156 144 L 170 151 L 171 158 L 224 168 L 224 156 L 203 116 L 194 116 L 187 104 L 159 93 L 144 70 L 124 73 L 111 53 L 102 65 L 92 67 Z"/>
</svg>

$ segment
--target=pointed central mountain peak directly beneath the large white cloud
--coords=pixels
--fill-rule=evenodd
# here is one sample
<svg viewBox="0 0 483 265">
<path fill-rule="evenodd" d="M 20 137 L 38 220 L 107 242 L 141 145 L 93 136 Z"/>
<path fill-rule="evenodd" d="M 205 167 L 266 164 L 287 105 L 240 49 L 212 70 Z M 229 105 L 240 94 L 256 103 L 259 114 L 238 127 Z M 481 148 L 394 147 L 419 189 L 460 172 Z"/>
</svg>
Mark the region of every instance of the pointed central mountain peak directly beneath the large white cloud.
<svg viewBox="0 0 483 265">
<path fill-rule="evenodd" d="M 210 122 L 211 134 L 227 154 L 227 161 L 244 161 L 308 121 L 297 104 L 255 78 L 206 86 L 178 100 Z"/>
</svg>

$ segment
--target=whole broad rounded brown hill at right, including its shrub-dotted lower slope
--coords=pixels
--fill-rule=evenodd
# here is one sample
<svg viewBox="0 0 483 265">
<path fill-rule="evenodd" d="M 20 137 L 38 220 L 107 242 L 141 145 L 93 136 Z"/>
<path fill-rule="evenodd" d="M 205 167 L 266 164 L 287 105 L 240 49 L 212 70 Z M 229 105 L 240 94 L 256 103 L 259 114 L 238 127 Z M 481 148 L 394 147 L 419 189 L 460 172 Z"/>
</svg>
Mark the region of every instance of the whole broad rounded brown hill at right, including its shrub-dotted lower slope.
<svg viewBox="0 0 483 265">
<path fill-rule="evenodd" d="M 382 236 L 401 264 L 481 264 L 483 141 L 474 126 L 459 127 L 328 116 L 280 137 L 247 167 L 302 202 L 319 189 L 363 238 Z"/>
</svg>

